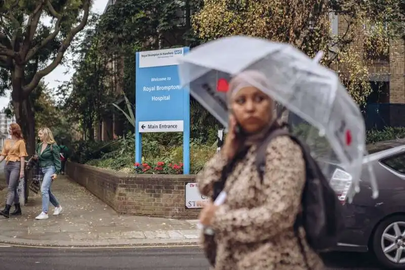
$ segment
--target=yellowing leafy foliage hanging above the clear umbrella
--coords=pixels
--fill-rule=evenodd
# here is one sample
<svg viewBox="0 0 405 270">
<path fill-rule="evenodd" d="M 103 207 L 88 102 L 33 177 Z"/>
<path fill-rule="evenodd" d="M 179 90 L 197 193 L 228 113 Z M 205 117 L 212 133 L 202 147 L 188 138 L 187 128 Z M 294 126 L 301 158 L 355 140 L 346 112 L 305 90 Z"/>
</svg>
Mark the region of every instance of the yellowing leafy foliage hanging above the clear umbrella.
<svg viewBox="0 0 405 270">
<path fill-rule="evenodd" d="M 205 0 L 193 17 L 193 28 L 206 41 L 242 34 L 291 43 L 310 57 L 324 51 L 321 62 L 335 68 L 353 99 L 364 104 L 371 93 L 371 59 L 388 52 L 390 38 L 401 27 L 395 1 Z M 389 15 L 377 12 L 382 7 Z M 343 20 L 343 34 L 331 31 L 333 14 Z M 385 31 L 388 24 L 397 28 Z M 368 29 L 363 36 L 362 28 Z M 372 47 L 372 57 L 364 57 L 359 49 L 363 45 Z"/>
</svg>

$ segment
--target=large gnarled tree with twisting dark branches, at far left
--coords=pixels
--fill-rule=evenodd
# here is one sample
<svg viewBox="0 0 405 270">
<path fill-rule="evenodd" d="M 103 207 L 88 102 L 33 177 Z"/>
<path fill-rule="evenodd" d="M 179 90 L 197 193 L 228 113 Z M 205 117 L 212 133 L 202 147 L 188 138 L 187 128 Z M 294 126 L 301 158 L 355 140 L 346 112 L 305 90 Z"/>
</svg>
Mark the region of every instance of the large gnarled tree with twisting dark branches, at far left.
<svg viewBox="0 0 405 270">
<path fill-rule="evenodd" d="M 12 104 L 32 152 L 35 119 L 29 96 L 62 63 L 88 20 L 91 0 L 0 1 L 0 94 L 12 89 Z"/>
</svg>

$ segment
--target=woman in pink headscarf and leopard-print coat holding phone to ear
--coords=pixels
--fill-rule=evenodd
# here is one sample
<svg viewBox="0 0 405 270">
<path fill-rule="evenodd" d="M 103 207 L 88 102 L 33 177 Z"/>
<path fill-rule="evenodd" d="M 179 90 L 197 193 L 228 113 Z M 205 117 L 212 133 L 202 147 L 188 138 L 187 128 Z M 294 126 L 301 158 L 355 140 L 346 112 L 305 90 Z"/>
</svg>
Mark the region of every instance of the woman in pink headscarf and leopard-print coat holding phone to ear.
<svg viewBox="0 0 405 270">
<path fill-rule="evenodd" d="M 293 226 L 306 181 L 303 153 L 291 138 L 272 140 L 266 151 L 263 182 L 255 167 L 257 146 L 277 127 L 275 102 L 260 89 L 269 83 L 257 71 L 244 71 L 229 83 L 229 131 L 225 144 L 197 178 L 201 194 L 212 197 L 225 178 L 226 202 L 208 203 L 200 222 L 216 232 L 215 269 L 322 269 L 302 228 Z"/>
</svg>

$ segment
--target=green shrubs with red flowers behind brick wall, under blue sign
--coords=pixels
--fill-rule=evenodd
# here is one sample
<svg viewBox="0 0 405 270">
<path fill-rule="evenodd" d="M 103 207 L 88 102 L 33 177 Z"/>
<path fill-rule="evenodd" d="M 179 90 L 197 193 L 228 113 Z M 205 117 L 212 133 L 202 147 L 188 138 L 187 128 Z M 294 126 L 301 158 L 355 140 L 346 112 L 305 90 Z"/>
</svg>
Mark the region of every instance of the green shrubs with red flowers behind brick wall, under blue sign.
<svg viewBox="0 0 405 270">
<path fill-rule="evenodd" d="M 152 140 L 156 138 L 161 141 Z M 142 138 L 141 162 L 143 165 L 141 164 L 141 166 L 138 166 L 137 168 L 135 168 L 134 164 L 135 138 L 133 134 L 128 134 L 125 138 L 119 138 L 114 141 L 114 143 L 102 145 L 102 151 L 98 150 L 99 154 L 92 154 L 92 157 L 96 156 L 97 158 L 87 160 L 82 158 L 82 161 L 85 160 L 83 163 L 91 166 L 128 173 L 183 173 L 183 145 L 179 145 L 178 143 L 175 144 L 175 141 L 182 141 L 180 139 L 176 139 L 176 134 L 172 134 L 166 139 L 156 136 L 144 136 Z M 172 142 L 173 144 L 165 146 L 161 144 L 161 142 Z M 88 147 L 87 149 L 91 148 Z M 216 149 L 215 143 L 211 145 L 203 145 L 200 140 L 191 140 L 190 173 L 198 173 L 204 168 L 206 162 L 216 153 Z M 90 155 L 87 155 L 86 157 L 89 156 Z"/>
</svg>

